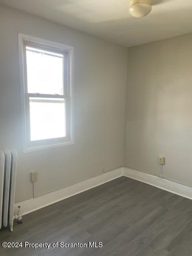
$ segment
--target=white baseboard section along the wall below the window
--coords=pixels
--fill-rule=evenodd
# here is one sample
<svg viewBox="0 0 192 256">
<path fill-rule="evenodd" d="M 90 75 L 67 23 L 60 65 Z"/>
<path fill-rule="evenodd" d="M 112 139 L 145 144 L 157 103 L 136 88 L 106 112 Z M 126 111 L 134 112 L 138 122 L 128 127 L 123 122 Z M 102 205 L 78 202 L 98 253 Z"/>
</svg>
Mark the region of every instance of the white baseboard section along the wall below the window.
<svg viewBox="0 0 192 256">
<path fill-rule="evenodd" d="M 26 200 L 24 202 L 19 202 L 14 205 L 14 214 L 16 214 L 18 210 L 18 206 L 21 206 L 22 208 L 22 214 L 28 214 L 30 212 L 34 212 L 36 210 L 39 210 L 43 207 L 46 207 L 50 204 L 54 204 L 56 202 L 59 202 L 61 200 L 64 200 L 70 196 L 74 196 L 76 194 L 79 194 L 81 192 L 84 192 L 86 190 L 89 190 L 91 188 L 94 188 L 96 186 L 99 186 L 101 184 L 104 184 L 106 182 L 109 182 L 110 180 L 114 180 L 116 178 L 119 178 L 122 176 L 123 168 L 119 168 L 110 172 L 106 172 L 103 174 L 100 174 L 98 176 L 89 178 L 87 180 L 83 180 L 81 182 L 78 182 L 76 184 L 72 184 L 70 186 L 67 186 L 65 188 L 61 188 L 59 190 L 56 190 L 54 192 L 50 192 L 48 194 L 45 194 L 43 196 L 39 196 L 37 198 L 31 198 L 29 200 Z"/>
</svg>

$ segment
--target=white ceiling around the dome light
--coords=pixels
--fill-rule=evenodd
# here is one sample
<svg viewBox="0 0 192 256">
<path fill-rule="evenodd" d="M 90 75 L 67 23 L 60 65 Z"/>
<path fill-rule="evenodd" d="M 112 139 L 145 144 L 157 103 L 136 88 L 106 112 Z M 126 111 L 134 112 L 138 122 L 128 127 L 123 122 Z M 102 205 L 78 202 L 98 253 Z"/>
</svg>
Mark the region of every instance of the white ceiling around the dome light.
<svg viewBox="0 0 192 256">
<path fill-rule="evenodd" d="M 0 0 L 8 6 L 124 46 L 192 32 L 192 0 L 152 0 L 152 12 L 130 16 L 130 0 Z"/>
</svg>

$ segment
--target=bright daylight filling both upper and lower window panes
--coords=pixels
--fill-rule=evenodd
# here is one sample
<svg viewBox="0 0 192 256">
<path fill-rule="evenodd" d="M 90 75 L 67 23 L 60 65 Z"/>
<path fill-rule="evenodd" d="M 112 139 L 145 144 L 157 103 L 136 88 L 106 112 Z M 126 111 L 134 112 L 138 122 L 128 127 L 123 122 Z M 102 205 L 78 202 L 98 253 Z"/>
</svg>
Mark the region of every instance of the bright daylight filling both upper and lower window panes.
<svg viewBox="0 0 192 256">
<path fill-rule="evenodd" d="M 26 46 L 28 93 L 63 95 L 64 56 Z M 30 97 L 30 140 L 66 136 L 64 98 Z"/>
</svg>

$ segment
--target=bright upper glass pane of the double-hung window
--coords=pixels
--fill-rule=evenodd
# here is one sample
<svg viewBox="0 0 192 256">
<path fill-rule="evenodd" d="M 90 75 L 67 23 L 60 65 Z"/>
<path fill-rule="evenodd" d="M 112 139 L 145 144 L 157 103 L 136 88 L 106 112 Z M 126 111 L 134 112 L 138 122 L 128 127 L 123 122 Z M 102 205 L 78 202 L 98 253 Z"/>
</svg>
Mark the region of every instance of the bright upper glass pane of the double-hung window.
<svg viewBox="0 0 192 256">
<path fill-rule="evenodd" d="M 29 93 L 63 94 L 63 55 L 26 46 Z"/>
</svg>

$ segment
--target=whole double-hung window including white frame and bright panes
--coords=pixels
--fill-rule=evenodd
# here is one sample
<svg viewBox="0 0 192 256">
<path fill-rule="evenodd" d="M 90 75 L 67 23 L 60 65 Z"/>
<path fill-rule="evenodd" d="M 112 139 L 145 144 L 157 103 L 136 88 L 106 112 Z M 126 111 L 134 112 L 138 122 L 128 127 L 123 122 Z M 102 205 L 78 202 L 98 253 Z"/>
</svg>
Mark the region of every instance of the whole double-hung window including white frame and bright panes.
<svg viewBox="0 0 192 256">
<path fill-rule="evenodd" d="M 24 150 L 73 144 L 73 48 L 18 34 Z"/>
</svg>

